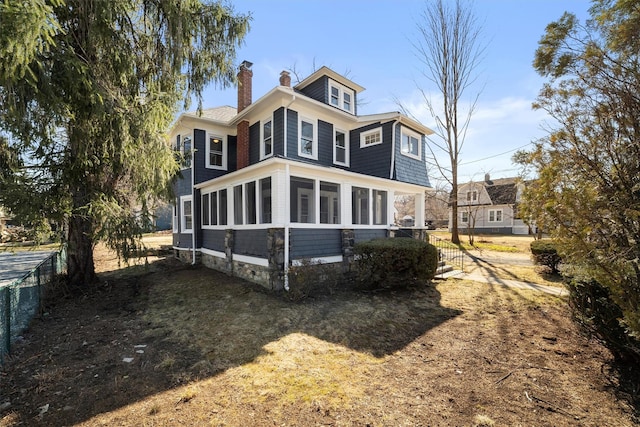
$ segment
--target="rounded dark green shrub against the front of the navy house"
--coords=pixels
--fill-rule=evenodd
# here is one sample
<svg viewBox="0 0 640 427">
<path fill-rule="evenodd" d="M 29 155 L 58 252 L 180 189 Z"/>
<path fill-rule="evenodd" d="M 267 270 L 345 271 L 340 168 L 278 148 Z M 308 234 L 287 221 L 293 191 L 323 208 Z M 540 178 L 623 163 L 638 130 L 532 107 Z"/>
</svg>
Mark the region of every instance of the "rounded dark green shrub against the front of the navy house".
<svg viewBox="0 0 640 427">
<path fill-rule="evenodd" d="M 433 279 L 438 267 L 435 246 L 412 238 L 373 239 L 357 243 L 355 285 L 360 289 L 405 288 Z"/>
</svg>

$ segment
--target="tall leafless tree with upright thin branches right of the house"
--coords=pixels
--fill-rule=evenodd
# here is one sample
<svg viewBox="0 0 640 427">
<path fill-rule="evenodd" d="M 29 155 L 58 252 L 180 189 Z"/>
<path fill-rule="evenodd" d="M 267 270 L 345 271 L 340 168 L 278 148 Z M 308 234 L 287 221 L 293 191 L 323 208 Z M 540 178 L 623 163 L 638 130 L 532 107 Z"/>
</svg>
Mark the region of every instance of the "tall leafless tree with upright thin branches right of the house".
<svg viewBox="0 0 640 427">
<path fill-rule="evenodd" d="M 416 57 L 421 63 L 421 73 L 435 84 L 441 99 L 432 99 L 424 87 L 418 85 L 423 101 L 436 120 L 435 135 L 438 140 L 427 144 L 432 161 L 451 185 L 452 217 L 451 241 L 460 243 L 458 236 L 458 165 L 480 92 L 471 97 L 469 107 L 461 107 L 463 96 L 476 80 L 476 69 L 485 46 L 480 40 L 480 25 L 467 4 L 456 0 L 434 0 L 425 5 L 416 24 L 418 37 L 412 42 Z M 401 104 L 403 112 L 406 108 Z M 466 111 L 465 111 L 466 110 Z M 438 152 L 448 155 L 448 165 L 438 159 Z"/>
</svg>

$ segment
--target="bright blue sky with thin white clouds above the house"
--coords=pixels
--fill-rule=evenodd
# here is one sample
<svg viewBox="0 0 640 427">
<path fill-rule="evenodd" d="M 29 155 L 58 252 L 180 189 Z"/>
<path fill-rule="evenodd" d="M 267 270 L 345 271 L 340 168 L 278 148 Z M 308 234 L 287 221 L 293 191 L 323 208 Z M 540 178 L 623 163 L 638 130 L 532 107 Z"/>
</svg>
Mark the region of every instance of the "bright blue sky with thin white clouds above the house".
<svg viewBox="0 0 640 427">
<path fill-rule="evenodd" d="M 437 96 L 421 75 L 411 40 L 424 0 L 235 0 L 236 12 L 252 14 L 238 63 L 253 62 L 253 99 L 278 85 L 280 72 L 302 79 L 323 65 L 365 87 L 358 113 L 398 111 L 396 99 L 434 128 L 417 87 Z M 543 112 L 531 108 L 544 79 L 532 67 L 545 27 L 565 11 L 588 17 L 586 0 L 478 0 L 469 3 L 482 27 L 485 56 L 477 70 L 480 98 L 461 153 L 459 179 L 516 176 L 511 156 L 544 135 Z M 292 75 L 292 84 L 295 84 Z M 236 90 L 210 88 L 204 108 L 236 106 Z M 437 171 L 430 171 L 432 184 Z"/>
</svg>

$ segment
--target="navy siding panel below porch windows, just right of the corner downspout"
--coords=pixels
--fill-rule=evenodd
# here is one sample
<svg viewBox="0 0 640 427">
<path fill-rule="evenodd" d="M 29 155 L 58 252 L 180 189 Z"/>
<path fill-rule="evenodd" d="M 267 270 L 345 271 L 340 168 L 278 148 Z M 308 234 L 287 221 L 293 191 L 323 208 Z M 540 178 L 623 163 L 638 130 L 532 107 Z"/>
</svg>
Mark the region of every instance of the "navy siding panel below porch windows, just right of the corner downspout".
<svg viewBox="0 0 640 427">
<path fill-rule="evenodd" d="M 291 259 L 342 255 L 342 230 L 292 228 L 289 247 Z"/>
</svg>

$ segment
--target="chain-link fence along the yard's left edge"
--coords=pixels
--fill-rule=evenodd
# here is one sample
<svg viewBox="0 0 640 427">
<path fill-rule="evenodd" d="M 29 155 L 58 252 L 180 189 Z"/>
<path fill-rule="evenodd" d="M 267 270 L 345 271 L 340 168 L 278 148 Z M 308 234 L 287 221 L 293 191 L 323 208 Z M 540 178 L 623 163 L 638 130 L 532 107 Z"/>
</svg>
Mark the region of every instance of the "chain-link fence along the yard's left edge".
<svg viewBox="0 0 640 427">
<path fill-rule="evenodd" d="M 11 352 L 11 345 L 40 312 L 43 296 L 56 275 L 67 265 L 65 249 L 51 254 L 36 268 L 13 283 L 0 287 L 0 365 Z"/>
</svg>

